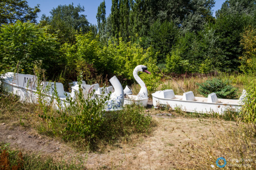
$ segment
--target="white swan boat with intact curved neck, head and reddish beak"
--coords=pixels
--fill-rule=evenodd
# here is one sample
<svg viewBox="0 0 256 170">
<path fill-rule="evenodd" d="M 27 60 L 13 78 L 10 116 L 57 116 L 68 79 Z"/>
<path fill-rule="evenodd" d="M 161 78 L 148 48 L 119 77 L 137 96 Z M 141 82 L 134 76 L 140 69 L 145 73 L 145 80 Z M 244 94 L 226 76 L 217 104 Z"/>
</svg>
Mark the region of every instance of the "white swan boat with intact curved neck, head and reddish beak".
<svg viewBox="0 0 256 170">
<path fill-rule="evenodd" d="M 141 80 L 141 78 L 138 76 L 138 72 L 144 72 L 147 74 L 151 74 L 147 71 L 147 67 L 145 65 L 138 65 L 135 67 L 133 71 L 134 79 L 138 82 L 138 84 L 141 86 L 140 92 L 138 95 L 132 95 L 132 89 L 129 86 L 126 86 L 124 88 L 124 105 L 131 105 L 133 103 L 147 106 L 147 87 L 145 83 Z"/>
</svg>

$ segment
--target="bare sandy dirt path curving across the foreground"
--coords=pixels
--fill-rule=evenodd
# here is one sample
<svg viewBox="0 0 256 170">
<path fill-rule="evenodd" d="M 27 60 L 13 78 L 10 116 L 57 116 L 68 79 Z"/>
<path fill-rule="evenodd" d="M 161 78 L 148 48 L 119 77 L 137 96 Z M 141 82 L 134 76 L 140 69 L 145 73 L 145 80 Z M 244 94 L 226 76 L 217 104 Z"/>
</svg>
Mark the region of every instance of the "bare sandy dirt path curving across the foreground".
<svg viewBox="0 0 256 170">
<path fill-rule="evenodd" d="M 215 143 L 213 133 L 221 131 L 220 120 L 172 117 L 153 114 L 158 126 L 150 135 L 134 135 L 132 141 L 108 145 L 104 151 L 77 151 L 61 140 L 39 135 L 35 129 L 0 124 L 0 142 L 24 152 L 52 156 L 56 160 L 81 160 L 88 169 L 176 169 L 190 163 L 185 146 Z M 224 126 L 235 122 L 223 121 Z M 209 168 L 211 164 L 209 164 Z"/>
</svg>

